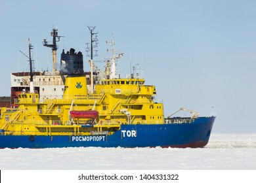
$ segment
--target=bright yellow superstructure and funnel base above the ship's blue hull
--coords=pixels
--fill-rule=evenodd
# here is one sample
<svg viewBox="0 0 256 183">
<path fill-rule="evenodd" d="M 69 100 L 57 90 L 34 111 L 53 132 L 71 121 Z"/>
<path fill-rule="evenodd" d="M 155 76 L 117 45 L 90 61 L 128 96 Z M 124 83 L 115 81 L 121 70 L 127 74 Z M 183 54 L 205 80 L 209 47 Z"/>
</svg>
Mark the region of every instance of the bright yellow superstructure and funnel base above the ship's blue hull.
<svg viewBox="0 0 256 183">
<path fill-rule="evenodd" d="M 156 88 L 144 79 L 99 80 L 93 91 L 87 91 L 85 76 L 74 75 L 66 77 L 62 99 L 20 93 L 17 109 L 1 108 L 0 129 L 5 135 L 111 135 L 121 124 L 164 123 L 163 103 L 153 100 Z M 71 110 L 96 110 L 98 118 L 72 118 Z"/>
</svg>

